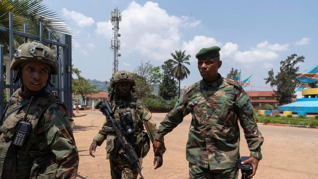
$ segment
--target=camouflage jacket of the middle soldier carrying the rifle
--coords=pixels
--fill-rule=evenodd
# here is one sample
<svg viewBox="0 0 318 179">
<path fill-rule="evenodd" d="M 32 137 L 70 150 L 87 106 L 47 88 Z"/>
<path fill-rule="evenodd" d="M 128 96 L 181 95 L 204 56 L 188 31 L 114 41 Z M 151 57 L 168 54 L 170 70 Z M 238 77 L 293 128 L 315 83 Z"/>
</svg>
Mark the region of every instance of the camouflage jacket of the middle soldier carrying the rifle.
<svg viewBox="0 0 318 179">
<path fill-rule="evenodd" d="M 154 118 L 152 117 L 151 112 L 148 110 L 147 106 L 139 99 L 130 98 L 125 101 L 118 100 L 112 103 L 112 108 L 114 111 L 115 120 L 119 120 L 119 112 L 131 112 L 133 118 L 133 128 L 135 130 L 134 134 L 134 145 L 136 153 L 139 157 L 145 157 L 150 149 L 150 141 L 155 140 L 155 135 L 157 133 L 157 126 Z M 103 126 L 108 126 L 107 118 Z M 144 127 L 146 128 L 147 133 L 143 132 Z M 114 134 L 106 134 L 104 130 L 100 130 L 98 134 L 94 137 L 93 140 L 97 141 L 97 145 L 102 145 L 103 141 L 107 139 L 106 151 L 107 158 L 114 159 L 118 158 L 117 154 L 122 154 L 123 150 L 118 149 L 118 146 L 115 146 Z M 119 145 L 119 144 L 117 144 Z M 117 148 L 117 150 L 116 150 Z"/>
</svg>

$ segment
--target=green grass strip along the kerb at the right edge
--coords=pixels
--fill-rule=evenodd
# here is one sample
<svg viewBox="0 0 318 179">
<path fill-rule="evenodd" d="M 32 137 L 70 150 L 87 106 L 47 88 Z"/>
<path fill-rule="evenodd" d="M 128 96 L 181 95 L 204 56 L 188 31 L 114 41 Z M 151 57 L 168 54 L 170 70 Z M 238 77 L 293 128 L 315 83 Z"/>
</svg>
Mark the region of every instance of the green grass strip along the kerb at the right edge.
<svg viewBox="0 0 318 179">
<path fill-rule="evenodd" d="M 291 125 L 305 125 L 318 126 L 318 119 L 316 118 L 299 118 L 299 117 L 276 117 L 276 116 L 259 116 L 255 115 L 255 120 L 262 123 L 274 124 L 291 124 Z"/>
</svg>

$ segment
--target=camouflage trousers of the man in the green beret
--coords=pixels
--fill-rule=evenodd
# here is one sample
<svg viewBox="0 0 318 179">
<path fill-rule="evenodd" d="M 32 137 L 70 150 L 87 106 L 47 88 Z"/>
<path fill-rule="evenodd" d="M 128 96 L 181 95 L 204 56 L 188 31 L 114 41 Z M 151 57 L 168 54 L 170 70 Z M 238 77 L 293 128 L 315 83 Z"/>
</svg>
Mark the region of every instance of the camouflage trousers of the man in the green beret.
<svg viewBox="0 0 318 179">
<path fill-rule="evenodd" d="M 237 179 L 238 168 L 210 170 L 189 162 L 189 179 Z"/>
</svg>

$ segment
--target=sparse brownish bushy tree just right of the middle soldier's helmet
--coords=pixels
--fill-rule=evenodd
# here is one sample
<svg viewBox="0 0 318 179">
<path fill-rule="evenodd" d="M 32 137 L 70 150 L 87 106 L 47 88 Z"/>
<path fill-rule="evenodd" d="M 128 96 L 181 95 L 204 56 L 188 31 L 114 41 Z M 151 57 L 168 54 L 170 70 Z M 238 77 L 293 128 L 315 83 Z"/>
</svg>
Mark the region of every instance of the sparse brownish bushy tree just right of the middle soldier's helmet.
<svg viewBox="0 0 318 179">
<path fill-rule="evenodd" d="M 134 73 L 136 86 L 134 87 L 134 95 L 136 98 L 142 98 L 147 94 L 151 93 L 152 89 L 150 88 L 149 83 L 145 77 L 139 76 Z"/>
</svg>

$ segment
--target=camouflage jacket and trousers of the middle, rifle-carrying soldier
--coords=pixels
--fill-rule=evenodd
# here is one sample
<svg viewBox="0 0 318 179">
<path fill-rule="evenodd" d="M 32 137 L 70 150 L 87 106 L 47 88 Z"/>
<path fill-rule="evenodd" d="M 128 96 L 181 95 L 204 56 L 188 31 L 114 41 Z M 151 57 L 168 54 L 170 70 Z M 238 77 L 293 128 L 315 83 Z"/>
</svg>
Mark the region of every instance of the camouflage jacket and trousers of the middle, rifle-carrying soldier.
<svg viewBox="0 0 318 179">
<path fill-rule="evenodd" d="M 120 73 L 119 71 L 118 73 Z M 125 71 L 130 77 L 130 73 Z M 124 80 L 122 80 L 124 81 Z M 127 81 L 127 80 L 126 80 Z M 114 111 L 115 120 L 119 120 L 119 113 L 131 112 L 133 118 L 133 128 L 135 130 L 133 141 L 131 142 L 135 148 L 135 151 L 140 158 L 140 164 L 142 158 L 145 157 L 150 149 L 150 140 L 153 142 L 155 134 L 157 133 L 157 126 L 151 112 L 147 106 L 139 99 L 129 97 L 125 100 L 114 100 L 112 102 L 112 109 Z M 103 126 L 107 126 L 107 118 Z M 144 126 L 147 133 L 144 132 Z M 150 137 L 150 140 L 149 140 Z M 136 168 L 130 165 L 129 161 L 123 157 L 124 151 L 118 146 L 120 143 L 116 143 L 114 134 L 106 134 L 104 130 L 100 130 L 93 140 L 96 140 L 97 145 L 102 145 L 106 139 L 106 151 L 107 159 L 110 159 L 111 175 L 112 179 L 136 179 L 138 172 Z"/>
</svg>

